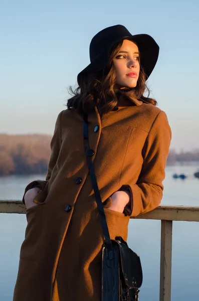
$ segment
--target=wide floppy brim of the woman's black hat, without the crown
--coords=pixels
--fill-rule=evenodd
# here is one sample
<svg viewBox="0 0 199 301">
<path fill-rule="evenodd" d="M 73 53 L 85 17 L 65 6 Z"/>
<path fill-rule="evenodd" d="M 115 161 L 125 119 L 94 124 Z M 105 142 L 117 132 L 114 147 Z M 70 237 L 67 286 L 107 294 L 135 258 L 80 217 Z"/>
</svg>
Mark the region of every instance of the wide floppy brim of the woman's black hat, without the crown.
<svg viewBox="0 0 199 301">
<path fill-rule="evenodd" d="M 112 46 L 120 41 L 123 40 L 131 40 L 137 44 L 137 47 L 140 52 L 140 65 L 144 69 L 146 74 L 146 79 L 150 76 L 151 72 L 153 71 L 158 55 L 159 55 L 159 46 L 155 42 L 155 40 L 147 35 L 147 34 L 140 34 L 140 35 L 129 35 L 123 37 L 122 39 L 118 39 L 114 41 L 108 48 L 104 49 L 101 54 L 96 57 L 92 63 L 90 63 L 85 69 L 83 69 L 77 76 L 77 82 L 80 84 L 80 77 L 82 74 L 96 72 L 104 69 L 109 61 L 110 50 Z"/>
</svg>

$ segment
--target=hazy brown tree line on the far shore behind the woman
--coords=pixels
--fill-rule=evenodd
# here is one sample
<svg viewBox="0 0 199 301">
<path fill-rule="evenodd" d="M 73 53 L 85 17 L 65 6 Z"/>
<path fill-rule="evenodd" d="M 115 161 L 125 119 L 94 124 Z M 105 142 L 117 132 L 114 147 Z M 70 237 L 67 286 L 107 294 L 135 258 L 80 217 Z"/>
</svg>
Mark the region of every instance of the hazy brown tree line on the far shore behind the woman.
<svg viewBox="0 0 199 301">
<path fill-rule="evenodd" d="M 0 176 L 46 174 L 51 155 L 51 135 L 0 134 Z M 177 154 L 170 149 L 167 164 L 199 161 L 199 149 Z"/>
</svg>

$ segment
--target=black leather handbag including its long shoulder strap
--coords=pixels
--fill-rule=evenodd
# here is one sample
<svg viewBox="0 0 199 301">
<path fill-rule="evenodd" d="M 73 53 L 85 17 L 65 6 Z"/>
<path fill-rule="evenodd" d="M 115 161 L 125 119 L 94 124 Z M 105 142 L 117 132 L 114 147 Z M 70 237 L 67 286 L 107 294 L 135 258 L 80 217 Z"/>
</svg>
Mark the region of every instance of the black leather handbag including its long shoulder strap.
<svg viewBox="0 0 199 301">
<path fill-rule="evenodd" d="M 102 246 L 102 301 L 137 301 L 142 285 L 142 267 L 139 256 L 121 236 L 110 239 L 104 208 L 100 197 L 89 148 L 88 115 L 84 113 L 84 147 L 91 181 L 104 233 Z"/>
</svg>

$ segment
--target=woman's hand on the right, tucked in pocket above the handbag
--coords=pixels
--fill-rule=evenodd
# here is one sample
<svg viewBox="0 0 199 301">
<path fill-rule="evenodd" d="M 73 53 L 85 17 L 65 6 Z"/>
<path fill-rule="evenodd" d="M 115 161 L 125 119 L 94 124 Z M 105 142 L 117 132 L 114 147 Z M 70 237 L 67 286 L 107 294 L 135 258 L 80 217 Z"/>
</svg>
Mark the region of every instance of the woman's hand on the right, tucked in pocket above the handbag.
<svg viewBox="0 0 199 301">
<path fill-rule="evenodd" d="M 123 213 L 124 207 L 130 201 L 130 192 L 127 190 L 116 191 L 111 195 L 111 200 L 112 200 L 112 204 L 107 209 Z"/>
</svg>

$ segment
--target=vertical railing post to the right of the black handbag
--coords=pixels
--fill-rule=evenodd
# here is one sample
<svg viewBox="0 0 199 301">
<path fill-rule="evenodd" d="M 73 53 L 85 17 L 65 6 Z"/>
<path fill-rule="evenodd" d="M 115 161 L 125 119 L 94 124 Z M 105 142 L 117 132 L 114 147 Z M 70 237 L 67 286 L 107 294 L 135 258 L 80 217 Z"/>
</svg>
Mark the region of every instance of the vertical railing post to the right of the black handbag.
<svg viewBox="0 0 199 301">
<path fill-rule="evenodd" d="M 160 301 L 171 299 L 172 221 L 161 220 Z"/>
</svg>

